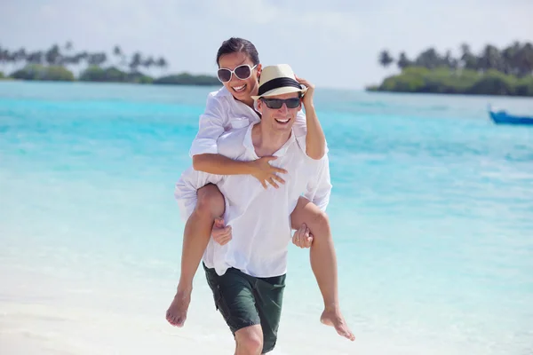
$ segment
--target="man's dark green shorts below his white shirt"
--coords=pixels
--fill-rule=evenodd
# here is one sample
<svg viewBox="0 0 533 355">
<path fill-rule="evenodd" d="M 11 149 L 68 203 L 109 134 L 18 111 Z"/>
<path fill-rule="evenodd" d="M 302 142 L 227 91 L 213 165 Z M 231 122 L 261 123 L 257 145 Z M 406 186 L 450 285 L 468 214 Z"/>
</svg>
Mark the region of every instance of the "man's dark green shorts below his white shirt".
<svg viewBox="0 0 533 355">
<path fill-rule="evenodd" d="M 285 275 L 256 278 L 229 268 L 219 276 L 203 265 L 207 283 L 213 291 L 215 307 L 222 313 L 232 333 L 260 324 L 263 329 L 263 353 L 272 351 L 282 315 Z"/>
</svg>

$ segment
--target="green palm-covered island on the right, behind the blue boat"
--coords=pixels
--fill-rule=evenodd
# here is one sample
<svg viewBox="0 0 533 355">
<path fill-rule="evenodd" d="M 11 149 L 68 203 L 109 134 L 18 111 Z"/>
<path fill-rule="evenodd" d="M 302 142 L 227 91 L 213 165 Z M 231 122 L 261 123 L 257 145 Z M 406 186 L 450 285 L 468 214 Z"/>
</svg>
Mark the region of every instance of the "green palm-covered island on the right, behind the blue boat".
<svg viewBox="0 0 533 355">
<path fill-rule="evenodd" d="M 411 60 L 405 52 L 394 59 L 381 51 L 378 62 L 401 70 L 367 91 L 424 92 L 467 95 L 508 95 L 533 97 L 533 44 L 515 42 L 503 50 L 486 45 L 478 55 L 461 45 L 460 58 L 450 51 L 442 55 L 429 48 Z"/>
</svg>

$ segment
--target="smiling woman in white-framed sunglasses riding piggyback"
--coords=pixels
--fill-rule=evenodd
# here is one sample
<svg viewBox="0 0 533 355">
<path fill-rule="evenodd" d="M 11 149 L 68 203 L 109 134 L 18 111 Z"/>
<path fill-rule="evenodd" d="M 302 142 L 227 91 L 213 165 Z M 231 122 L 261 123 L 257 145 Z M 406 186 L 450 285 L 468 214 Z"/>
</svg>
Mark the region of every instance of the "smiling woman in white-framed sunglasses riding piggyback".
<svg viewBox="0 0 533 355">
<path fill-rule="evenodd" d="M 259 91 L 261 64 L 258 51 L 247 40 L 230 38 L 220 46 L 217 64 L 219 80 L 224 86 L 209 95 L 205 113 L 200 117 L 200 129 L 190 151 L 194 169 L 217 175 L 251 175 L 265 188 L 272 188 L 267 184 L 277 188 L 278 184 L 284 183 L 277 174 L 286 171 L 269 163 L 275 157 L 236 162 L 217 154 L 217 138 L 225 130 L 243 128 L 260 119 L 251 99 Z M 312 159 L 321 159 L 326 153 L 326 143 L 314 111 L 314 86 L 304 79 L 298 81 L 307 87 L 302 99 L 306 115 L 298 113 L 293 131 L 306 154 Z M 211 234 L 221 245 L 231 240 L 231 227 L 226 227 L 220 218 L 224 214 L 225 201 L 218 187 L 205 185 L 198 190 L 197 197 L 194 212 L 187 216 L 178 290 L 166 313 L 167 320 L 177 327 L 182 327 L 187 319 L 193 278 Z M 298 230 L 293 243 L 300 248 L 311 248 L 311 266 L 324 300 L 322 323 L 335 327 L 339 335 L 354 340 L 339 310 L 337 261 L 328 217 L 301 197 L 290 220 L 292 228 Z"/>
</svg>

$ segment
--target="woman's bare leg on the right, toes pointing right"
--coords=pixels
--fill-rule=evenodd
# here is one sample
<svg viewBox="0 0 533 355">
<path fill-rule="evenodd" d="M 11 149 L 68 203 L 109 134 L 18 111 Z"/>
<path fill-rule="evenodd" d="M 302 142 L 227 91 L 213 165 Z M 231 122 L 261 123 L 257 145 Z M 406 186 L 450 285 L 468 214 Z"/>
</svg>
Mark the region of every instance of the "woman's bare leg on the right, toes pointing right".
<svg viewBox="0 0 533 355">
<path fill-rule="evenodd" d="M 311 268 L 324 301 L 323 324 L 335 327 L 339 335 L 354 340 L 355 336 L 346 324 L 338 304 L 337 256 L 331 237 L 330 221 L 327 215 L 314 203 L 300 197 L 296 209 L 290 215 L 293 229 L 306 224 L 314 236 L 311 245 Z"/>
</svg>

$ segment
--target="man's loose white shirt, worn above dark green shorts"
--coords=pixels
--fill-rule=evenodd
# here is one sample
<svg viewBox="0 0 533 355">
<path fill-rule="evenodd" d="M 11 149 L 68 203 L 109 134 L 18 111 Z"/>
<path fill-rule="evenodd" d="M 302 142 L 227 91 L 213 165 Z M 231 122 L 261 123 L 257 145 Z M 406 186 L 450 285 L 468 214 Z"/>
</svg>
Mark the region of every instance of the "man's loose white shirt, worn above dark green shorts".
<svg viewBox="0 0 533 355">
<path fill-rule="evenodd" d="M 259 120 L 258 120 L 259 121 Z M 215 153 L 238 161 L 259 159 L 251 140 L 257 122 L 240 130 L 229 130 L 216 141 Z M 186 170 L 176 184 L 175 196 L 182 216 L 187 219 L 195 209 L 196 190 L 212 183 L 219 187 L 226 201 L 224 221 L 232 226 L 232 240 L 221 246 L 212 238 L 203 254 L 203 262 L 222 275 L 234 267 L 251 276 L 279 276 L 287 270 L 288 245 L 291 238 L 290 214 L 303 195 L 325 210 L 330 201 L 330 169 L 327 154 L 313 160 L 295 138 L 273 155 L 271 164 L 287 170 L 285 184 L 265 189 L 250 175 L 221 176 Z"/>
</svg>

